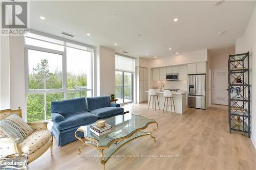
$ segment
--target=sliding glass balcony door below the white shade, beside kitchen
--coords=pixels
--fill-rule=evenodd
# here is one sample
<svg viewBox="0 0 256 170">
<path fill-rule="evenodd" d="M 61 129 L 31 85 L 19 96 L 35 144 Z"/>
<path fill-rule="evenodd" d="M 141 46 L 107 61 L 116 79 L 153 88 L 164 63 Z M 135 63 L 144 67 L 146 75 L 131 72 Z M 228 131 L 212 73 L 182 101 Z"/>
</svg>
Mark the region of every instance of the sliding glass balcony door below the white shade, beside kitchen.
<svg viewBox="0 0 256 170">
<path fill-rule="evenodd" d="M 115 92 L 117 103 L 133 102 L 133 73 L 116 71 Z"/>
</svg>

